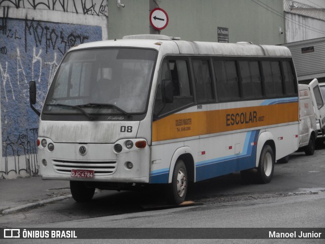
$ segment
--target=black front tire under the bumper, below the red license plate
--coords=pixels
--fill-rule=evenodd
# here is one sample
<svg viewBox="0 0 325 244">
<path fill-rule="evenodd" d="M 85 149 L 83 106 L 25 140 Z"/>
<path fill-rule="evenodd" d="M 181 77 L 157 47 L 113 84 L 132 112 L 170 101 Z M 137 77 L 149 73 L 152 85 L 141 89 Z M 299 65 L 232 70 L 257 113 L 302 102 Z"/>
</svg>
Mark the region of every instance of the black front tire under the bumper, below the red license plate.
<svg viewBox="0 0 325 244">
<path fill-rule="evenodd" d="M 95 193 L 95 188 L 83 181 L 70 181 L 70 191 L 76 202 L 88 202 Z"/>
</svg>

